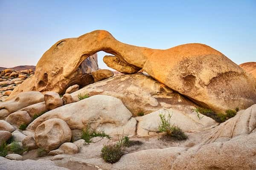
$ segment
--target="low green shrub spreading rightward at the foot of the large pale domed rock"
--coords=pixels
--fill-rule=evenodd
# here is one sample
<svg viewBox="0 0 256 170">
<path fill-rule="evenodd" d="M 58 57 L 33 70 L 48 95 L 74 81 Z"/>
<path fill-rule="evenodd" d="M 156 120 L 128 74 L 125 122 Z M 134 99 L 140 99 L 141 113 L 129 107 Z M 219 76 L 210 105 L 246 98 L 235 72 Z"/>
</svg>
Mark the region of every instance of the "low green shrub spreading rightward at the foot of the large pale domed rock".
<svg viewBox="0 0 256 170">
<path fill-rule="evenodd" d="M 90 143 L 91 139 L 93 137 L 107 137 L 108 139 L 110 139 L 111 137 L 105 133 L 103 130 L 102 131 L 97 131 L 97 130 L 92 130 L 90 129 L 90 127 L 87 127 L 86 129 L 82 130 L 82 134 L 81 134 L 81 139 L 84 139 L 85 142 Z"/>
</svg>

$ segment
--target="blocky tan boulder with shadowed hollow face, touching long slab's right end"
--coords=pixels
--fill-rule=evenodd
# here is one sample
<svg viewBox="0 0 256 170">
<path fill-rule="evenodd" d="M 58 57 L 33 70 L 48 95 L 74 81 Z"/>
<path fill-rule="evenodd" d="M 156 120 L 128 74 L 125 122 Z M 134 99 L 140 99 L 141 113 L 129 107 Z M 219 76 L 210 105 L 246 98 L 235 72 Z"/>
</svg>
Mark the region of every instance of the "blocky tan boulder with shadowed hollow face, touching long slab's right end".
<svg viewBox="0 0 256 170">
<path fill-rule="evenodd" d="M 53 91 L 48 91 L 44 94 L 44 101 L 48 110 L 52 110 L 63 105 L 60 95 Z"/>
</svg>

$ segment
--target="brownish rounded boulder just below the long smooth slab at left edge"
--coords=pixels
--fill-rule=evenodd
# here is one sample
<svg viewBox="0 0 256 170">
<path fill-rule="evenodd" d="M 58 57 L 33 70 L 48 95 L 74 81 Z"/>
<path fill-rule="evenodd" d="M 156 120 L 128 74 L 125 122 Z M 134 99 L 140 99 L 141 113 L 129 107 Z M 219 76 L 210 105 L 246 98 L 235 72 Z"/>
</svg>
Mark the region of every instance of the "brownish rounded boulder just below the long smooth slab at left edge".
<svg viewBox="0 0 256 170">
<path fill-rule="evenodd" d="M 32 119 L 27 111 L 17 111 L 6 117 L 6 121 L 19 127 L 21 124 L 28 125 Z"/>
</svg>

